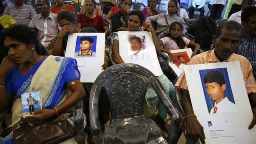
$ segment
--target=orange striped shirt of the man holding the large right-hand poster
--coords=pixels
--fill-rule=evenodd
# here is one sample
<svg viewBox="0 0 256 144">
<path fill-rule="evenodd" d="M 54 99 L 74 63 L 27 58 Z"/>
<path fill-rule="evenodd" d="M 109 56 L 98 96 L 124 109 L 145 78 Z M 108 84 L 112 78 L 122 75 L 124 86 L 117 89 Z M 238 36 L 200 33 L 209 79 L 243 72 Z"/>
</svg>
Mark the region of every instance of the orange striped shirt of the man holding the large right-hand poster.
<svg viewBox="0 0 256 144">
<path fill-rule="evenodd" d="M 219 62 L 219 59 L 216 57 L 214 50 L 209 50 L 207 52 L 201 53 L 199 55 L 196 55 L 190 59 L 190 62 L 188 64 L 206 64 L 206 63 L 214 63 Z M 240 62 L 242 75 L 245 81 L 245 87 L 247 90 L 247 94 L 255 93 L 256 92 L 256 82 L 254 79 L 254 76 L 252 75 L 252 67 L 250 62 L 243 56 L 232 54 L 229 59 L 223 62 Z M 178 78 L 178 81 L 175 84 L 175 87 L 179 89 L 186 89 L 187 88 L 187 81 L 185 77 L 184 71 L 181 73 L 180 77 Z"/>
</svg>

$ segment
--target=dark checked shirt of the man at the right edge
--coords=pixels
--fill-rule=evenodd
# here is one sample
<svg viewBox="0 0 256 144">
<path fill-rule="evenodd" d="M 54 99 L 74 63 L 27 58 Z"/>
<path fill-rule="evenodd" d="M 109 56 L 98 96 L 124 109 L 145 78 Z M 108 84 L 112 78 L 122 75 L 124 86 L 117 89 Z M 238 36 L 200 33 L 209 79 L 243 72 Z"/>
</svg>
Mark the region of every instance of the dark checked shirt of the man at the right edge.
<svg viewBox="0 0 256 144">
<path fill-rule="evenodd" d="M 249 41 L 249 39 L 243 35 L 242 43 L 235 53 L 242 55 L 249 60 L 253 69 L 252 74 L 256 75 L 256 34 L 254 34 L 251 41 Z"/>
</svg>

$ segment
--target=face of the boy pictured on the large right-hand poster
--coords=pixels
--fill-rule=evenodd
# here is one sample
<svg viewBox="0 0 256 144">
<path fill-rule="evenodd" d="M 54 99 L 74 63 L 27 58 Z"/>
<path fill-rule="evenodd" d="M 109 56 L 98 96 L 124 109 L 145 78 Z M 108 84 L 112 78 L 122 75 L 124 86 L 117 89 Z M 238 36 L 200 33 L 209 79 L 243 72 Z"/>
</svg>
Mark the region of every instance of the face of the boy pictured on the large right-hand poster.
<svg viewBox="0 0 256 144">
<path fill-rule="evenodd" d="M 216 101 L 217 99 L 224 97 L 224 91 L 226 89 L 225 84 L 220 86 L 216 82 L 213 82 L 213 83 L 207 82 L 205 83 L 205 86 L 206 86 L 206 91 L 208 95 L 213 101 Z"/>
</svg>

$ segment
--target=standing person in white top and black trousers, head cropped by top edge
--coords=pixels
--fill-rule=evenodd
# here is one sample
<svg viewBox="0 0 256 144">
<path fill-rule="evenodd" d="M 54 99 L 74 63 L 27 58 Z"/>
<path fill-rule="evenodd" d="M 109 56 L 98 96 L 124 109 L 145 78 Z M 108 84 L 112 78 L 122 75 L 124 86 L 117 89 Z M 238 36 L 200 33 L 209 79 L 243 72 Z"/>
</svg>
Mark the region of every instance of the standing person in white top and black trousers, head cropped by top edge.
<svg viewBox="0 0 256 144">
<path fill-rule="evenodd" d="M 210 18 L 217 21 L 221 19 L 222 11 L 226 5 L 226 0 L 213 0 L 213 12 L 210 15 Z"/>
</svg>

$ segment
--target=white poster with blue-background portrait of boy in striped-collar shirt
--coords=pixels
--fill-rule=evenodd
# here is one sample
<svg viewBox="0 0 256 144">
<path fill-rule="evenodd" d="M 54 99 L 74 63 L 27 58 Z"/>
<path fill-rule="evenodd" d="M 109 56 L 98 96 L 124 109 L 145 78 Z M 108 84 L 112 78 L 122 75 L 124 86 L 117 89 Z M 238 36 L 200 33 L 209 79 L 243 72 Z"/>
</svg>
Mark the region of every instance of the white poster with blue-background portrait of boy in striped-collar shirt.
<svg viewBox="0 0 256 144">
<path fill-rule="evenodd" d="M 103 71 L 105 33 L 69 34 L 65 57 L 77 60 L 81 82 L 94 82 Z M 90 76 L 88 76 L 90 75 Z"/>
</svg>

